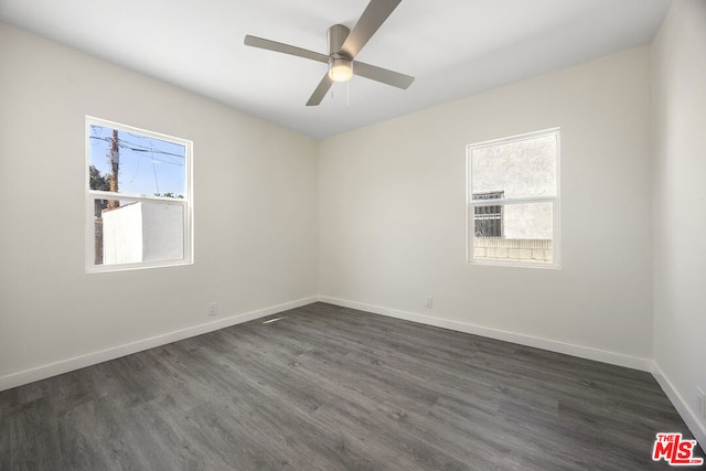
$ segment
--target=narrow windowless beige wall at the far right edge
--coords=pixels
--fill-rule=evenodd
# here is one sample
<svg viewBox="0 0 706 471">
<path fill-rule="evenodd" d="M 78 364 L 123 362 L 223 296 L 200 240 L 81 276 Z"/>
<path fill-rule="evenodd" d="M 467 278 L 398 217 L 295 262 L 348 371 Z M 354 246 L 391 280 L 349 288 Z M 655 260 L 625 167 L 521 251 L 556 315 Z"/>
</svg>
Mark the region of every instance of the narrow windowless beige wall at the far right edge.
<svg viewBox="0 0 706 471">
<path fill-rule="evenodd" d="M 706 1 L 678 0 L 652 46 L 654 362 L 706 445 Z"/>
</svg>

